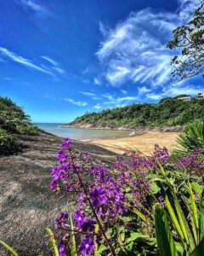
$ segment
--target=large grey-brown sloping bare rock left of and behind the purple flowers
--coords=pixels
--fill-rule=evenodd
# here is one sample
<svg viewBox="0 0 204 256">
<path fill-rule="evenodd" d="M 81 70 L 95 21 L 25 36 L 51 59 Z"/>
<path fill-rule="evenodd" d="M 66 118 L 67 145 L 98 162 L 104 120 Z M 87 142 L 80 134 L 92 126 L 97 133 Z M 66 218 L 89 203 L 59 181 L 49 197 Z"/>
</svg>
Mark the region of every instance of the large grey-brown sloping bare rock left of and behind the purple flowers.
<svg viewBox="0 0 204 256">
<path fill-rule="evenodd" d="M 54 230 L 54 220 L 65 206 L 65 200 L 57 201 L 58 196 L 49 189 L 62 138 L 42 133 L 20 139 L 22 153 L 0 157 L 0 240 L 20 256 L 49 255 L 45 228 Z M 107 164 L 116 158 L 93 144 L 74 141 L 73 147 Z M 1 245 L 0 255 L 9 255 Z"/>
</svg>

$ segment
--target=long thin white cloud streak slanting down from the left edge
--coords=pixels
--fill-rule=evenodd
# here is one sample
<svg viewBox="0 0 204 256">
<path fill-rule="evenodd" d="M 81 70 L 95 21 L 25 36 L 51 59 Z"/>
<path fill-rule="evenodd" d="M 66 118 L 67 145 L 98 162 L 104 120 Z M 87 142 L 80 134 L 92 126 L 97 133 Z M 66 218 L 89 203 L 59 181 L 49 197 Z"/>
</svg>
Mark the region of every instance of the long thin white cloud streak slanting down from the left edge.
<svg viewBox="0 0 204 256">
<path fill-rule="evenodd" d="M 16 55 L 14 52 L 12 52 L 6 48 L 0 47 L 0 53 L 4 56 L 8 57 L 8 59 L 10 59 L 11 61 L 18 62 L 23 66 L 31 67 L 33 69 L 36 69 L 36 70 L 42 72 L 42 73 L 47 73 L 49 75 L 54 76 L 54 73 L 52 73 L 52 71 L 48 70 L 47 68 L 38 66 L 38 65 L 34 64 L 32 61 L 30 61 L 20 55 Z"/>
</svg>

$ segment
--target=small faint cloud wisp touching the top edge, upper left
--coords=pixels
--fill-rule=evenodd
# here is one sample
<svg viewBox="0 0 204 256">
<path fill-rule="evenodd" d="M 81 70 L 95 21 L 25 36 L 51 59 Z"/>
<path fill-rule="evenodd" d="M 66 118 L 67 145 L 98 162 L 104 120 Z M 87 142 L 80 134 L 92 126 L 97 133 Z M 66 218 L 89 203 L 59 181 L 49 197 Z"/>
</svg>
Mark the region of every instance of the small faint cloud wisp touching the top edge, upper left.
<svg viewBox="0 0 204 256">
<path fill-rule="evenodd" d="M 16 3 L 20 4 L 21 6 L 31 9 L 37 15 L 51 15 L 50 11 L 42 4 L 37 3 L 34 0 L 15 0 Z M 39 2 L 39 1 L 38 1 Z"/>
</svg>

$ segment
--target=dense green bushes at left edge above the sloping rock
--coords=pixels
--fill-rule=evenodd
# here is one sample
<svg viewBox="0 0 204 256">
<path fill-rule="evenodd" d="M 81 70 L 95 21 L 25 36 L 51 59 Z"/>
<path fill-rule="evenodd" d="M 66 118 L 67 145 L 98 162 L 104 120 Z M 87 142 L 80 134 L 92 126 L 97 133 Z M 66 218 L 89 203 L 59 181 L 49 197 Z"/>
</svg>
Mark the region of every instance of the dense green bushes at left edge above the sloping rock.
<svg viewBox="0 0 204 256">
<path fill-rule="evenodd" d="M 7 97 L 0 97 L 0 154 L 12 154 L 20 149 L 19 135 L 37 135 L 23 108 Z"/>
</svg>

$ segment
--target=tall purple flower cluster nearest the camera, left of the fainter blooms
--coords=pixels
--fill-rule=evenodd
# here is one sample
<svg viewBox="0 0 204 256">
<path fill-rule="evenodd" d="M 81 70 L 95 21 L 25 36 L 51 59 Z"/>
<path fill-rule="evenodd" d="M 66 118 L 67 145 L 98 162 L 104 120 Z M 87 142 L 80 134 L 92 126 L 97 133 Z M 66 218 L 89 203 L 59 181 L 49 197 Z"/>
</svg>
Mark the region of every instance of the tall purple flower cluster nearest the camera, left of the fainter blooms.
<svg viewBox="0 0 204 256">
<path fill-rule="evenodd" d="M 111 241 L 106 236 L 109 220 L 114 221 L 118 215 L 126 211 L 126 197 L 122 193 L 122 185 L 112 177 L 108 168 L 99 162 L 91 165 L 91 156 L 86 153 L 80 155 L 71 150 L 71 140 L 66 138 L 59 150 L 59 166 L 54 166 L 51 174 L 53 180 L 51 189 L 62 194 L 69 194 L 68 202 L 78 209 L 74 214 L 75 230 L 84 237 L 78 247 L 82 254 L 93 253 L 94 244 L 102 240 L 114 254 Z M 91 166 L 91 167 L 90 167 Z M 56 227 L 65 232 L 60 243 L 60 252 L 65 253 L 65 248 L 71 244 L 68 214 L 61 212 L 56 219 Z M 97 225 L 97 229 L 96 229 Z"/>
</svg>

